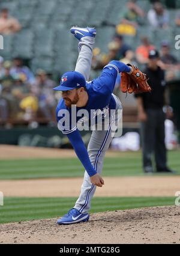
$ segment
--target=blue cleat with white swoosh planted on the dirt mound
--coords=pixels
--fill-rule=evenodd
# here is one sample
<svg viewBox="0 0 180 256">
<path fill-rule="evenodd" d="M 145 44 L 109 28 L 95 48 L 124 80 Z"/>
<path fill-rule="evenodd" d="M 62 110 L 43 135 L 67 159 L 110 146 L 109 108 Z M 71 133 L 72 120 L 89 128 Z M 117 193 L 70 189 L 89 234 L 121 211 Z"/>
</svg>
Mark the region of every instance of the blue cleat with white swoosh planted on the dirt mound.
<svg viewBox="0 0 180 256">
<path fill-rule="evenodd" d="M 62 218 L 58 219 L 57 224 L 68 225 L 73 223 L 85 222 L 89 220 L 88 213 L 80 213 L 79 210 L 73 208 L 64 215 Z"/>
</svg>

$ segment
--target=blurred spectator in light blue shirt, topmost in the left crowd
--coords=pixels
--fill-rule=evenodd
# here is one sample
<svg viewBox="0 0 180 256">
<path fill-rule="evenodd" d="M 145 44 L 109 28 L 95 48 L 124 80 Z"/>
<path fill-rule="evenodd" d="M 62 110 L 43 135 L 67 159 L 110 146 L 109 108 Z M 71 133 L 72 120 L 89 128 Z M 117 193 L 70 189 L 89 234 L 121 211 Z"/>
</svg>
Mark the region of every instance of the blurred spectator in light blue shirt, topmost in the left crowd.
<svg viewBox="0 0 180 256">
<path fill-rule="evenodd" d="M 10 73 L 12 76 L 20 76 L 24 82 L 29 84 L 34 83 L 34 74 L 29 67 L 23 65 L 23 59 L 16 57 L 13 59 L 13 67 L 11 67 Z"/>
</svg>

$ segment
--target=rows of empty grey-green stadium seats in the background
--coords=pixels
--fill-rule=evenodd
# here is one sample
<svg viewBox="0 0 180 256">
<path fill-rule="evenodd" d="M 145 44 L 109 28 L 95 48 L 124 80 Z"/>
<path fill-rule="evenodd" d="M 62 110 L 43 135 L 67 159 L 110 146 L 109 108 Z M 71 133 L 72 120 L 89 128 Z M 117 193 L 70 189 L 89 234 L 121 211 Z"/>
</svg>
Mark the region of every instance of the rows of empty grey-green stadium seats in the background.
<svg viewBox="0 0 180 256">
<path fill-rule="evenodd" d="M 1 51 L 1 56 L 5 59 L 22 56 L 29 59 L 29 66 L 34 72 L 42 68 L 47 72 L 61 75 L 73 69 L 77 56 L 76 42 L 67 33 L 67 29 L 71 25 L 96 26 L 98 29 L 96 46 L 107 52 L 107 44 L 115 33 L 114 26 L 124 13 L 125 2 L 127 1 L 7 0 L 1 2 L 0 8 L 7 7 L 10 14 L 15 16 L 23 27 L 18 34 L 4 36 L 5 47 Z M 166 4 L 167 1 L 163 2 Z M 149 1 L 139 0 L 137 4 L 145 11 L 151 7 Z M 177 0 L 176 8 L 179 7 L 180 1 Z M 128 44 L 135 50 L 142 34 L 148 34 L 157 48 L 160 47 L 162 38 L 173 41 L 174 35 L 180 34 L 180 28 L 174 25 L 176 11 L 169 10 L 170 28 L 152 30 L 148 22 L 145 22 L 137 31 L 136 37 L 126 37 Z M 180 60 L 178 51 L 176 57 Z"/>
</svg>

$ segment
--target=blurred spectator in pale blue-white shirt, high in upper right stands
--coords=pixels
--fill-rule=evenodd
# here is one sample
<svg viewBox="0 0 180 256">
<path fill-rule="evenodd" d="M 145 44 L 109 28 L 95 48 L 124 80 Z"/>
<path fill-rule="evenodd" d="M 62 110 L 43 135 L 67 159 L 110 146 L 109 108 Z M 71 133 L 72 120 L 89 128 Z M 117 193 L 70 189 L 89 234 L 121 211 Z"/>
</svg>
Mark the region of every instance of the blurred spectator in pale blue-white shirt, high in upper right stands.
<svg viewBox="0 0 180 256">
<path fill-rule="evenodd" d="M 169 13 L 164 10 L 161 2 L 155 2 L 153 9 L 148 11 L 148 20 L 154 28 L 167 28 L 169 25 Z"/>
</svg>

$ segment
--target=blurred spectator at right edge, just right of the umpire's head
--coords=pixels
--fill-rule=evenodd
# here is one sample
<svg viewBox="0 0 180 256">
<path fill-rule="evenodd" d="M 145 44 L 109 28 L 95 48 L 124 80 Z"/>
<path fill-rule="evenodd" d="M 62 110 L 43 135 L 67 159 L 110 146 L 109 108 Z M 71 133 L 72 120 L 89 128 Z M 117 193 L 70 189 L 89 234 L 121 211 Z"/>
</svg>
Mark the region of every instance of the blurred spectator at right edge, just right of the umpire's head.
<svg viewBox="0 0 180 256">
<path fill-rule="evenodd" d="M 167 41 L 161 43 L 161 58 L 158 64 L 161 69 L 166 70 L 166 81 L 179 78 L 180 64 L 170 53 L 170 46 Z"/>
</svg>

